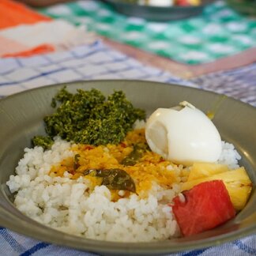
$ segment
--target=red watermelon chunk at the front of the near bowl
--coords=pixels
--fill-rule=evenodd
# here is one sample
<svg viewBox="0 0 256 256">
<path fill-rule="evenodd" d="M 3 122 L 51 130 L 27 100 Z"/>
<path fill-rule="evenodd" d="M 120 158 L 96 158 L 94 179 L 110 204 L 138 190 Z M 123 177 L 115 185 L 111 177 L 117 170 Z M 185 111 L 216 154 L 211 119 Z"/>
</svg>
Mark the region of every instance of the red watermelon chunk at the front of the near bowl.
<svg viewBox="0 0 256 256">
<path fill-rule="evenodd" d="M 172 210 L 184 236 L 215 228 L 235 216 L 222 180 L 200 183 L 183 191 L 183 196 L 174 198 Z"/>
</svg>

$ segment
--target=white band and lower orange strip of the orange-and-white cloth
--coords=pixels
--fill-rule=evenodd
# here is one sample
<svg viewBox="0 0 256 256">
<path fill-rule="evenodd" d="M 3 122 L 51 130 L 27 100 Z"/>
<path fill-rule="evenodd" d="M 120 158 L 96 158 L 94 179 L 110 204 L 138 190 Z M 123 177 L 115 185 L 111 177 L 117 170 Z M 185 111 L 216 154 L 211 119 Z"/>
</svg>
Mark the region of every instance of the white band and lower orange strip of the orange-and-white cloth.
<svg viewBox="0 0 256 256">
<path fill-rule="evenodd" d="M 29 56 L 62 51 L 95 40 L 92 32 L 86 32 L 85 25 L 75 27 L 67 21 L 21 24 L 0 30 L 0 56 Z"/>
</svg>

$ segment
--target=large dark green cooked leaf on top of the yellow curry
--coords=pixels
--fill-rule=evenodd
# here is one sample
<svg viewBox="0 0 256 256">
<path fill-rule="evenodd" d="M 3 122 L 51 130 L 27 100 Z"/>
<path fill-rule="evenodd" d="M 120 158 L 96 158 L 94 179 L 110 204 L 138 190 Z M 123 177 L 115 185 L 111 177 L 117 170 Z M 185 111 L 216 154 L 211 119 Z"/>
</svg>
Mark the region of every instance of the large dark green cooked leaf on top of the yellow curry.
<svg viewBox="0 0 256 256">
<path fill-rule="evenodd" d="M 135 183 L 130 175 L 119 168 L 104 170 L 87 170 L 84 175 L 92 175 L 103 178 L 101 185 L 107 186 L 111 190 L 128 190 L 135 192 Z"/>
</svg>

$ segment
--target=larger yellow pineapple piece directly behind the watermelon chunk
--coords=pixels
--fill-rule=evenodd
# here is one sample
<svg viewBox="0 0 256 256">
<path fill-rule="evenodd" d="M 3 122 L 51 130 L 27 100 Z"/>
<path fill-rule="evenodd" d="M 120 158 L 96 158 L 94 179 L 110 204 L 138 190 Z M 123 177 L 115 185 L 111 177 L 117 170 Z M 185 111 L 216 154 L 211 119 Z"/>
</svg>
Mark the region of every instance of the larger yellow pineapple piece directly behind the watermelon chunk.
<svg viewBox="0 0 256 256">
<path fill-rule="evenodd" d="M 232 171 L 224 171 L 201 179 L 190 180 L 182 184 L 182 191 L 190 190 L 193 186 L 198 185 L 199 183 L 217 179 L 223 180 L 235 210 L 239 211 L 243 209 L 252 189 L 250 178 L 243 167 Z"/>
</svg>

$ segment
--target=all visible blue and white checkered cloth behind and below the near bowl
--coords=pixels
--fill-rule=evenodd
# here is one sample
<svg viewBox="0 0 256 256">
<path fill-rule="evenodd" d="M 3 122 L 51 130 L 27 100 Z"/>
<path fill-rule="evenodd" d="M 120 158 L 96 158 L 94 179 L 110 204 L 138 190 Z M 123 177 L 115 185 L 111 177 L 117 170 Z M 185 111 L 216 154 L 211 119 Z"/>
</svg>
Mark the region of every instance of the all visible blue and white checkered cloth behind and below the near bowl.
<svg viewBox="0 0 256 256">
<path fill-rule="evenodd" d="M 141 79 L 205 88 L 234 96 L 256 106 L 256 64 L 243 69 L 210 74 L 184 81 L 171 73 L 145 66 L 100 41 L 70 51 L 29 58 L 0 59 L 0 97 L 29 88 L 92 79 Z M 244 78 L 245 77 L 245 78 Z M 198 85 L 195 85 L 198 83 Z M 200 85 L 200 86 L 199 86 Z M 0 255 L 96 255 L 43 243 L 0 228 Z M 256 235 L 225 243 L 219 247 L 186 251 L 179 256 L 256 255 Z"/>
</svg>

